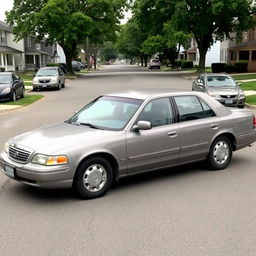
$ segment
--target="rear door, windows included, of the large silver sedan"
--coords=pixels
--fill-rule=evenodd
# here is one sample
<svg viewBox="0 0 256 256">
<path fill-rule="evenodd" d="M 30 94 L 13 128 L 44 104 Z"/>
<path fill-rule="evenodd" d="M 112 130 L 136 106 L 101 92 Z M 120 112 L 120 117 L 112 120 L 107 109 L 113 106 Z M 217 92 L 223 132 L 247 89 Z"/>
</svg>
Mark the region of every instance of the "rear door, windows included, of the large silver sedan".
<svg viewBox="0 0 256 256">
<path fill-rule="evenodd" d="M 219 118 L 210 106 L 195 95 L 175 96 L 179 112 L 181 163 L 207 156 L 212 138 L 219 130 Z"/>
</svg>

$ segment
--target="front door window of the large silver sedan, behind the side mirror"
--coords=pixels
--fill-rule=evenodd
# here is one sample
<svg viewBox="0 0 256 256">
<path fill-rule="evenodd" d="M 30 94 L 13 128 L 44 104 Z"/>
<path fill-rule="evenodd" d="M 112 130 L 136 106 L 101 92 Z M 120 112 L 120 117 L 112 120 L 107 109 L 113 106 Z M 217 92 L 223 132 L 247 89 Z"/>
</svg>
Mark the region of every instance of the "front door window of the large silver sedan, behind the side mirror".
<svg viewBox="0 0 256 256">
<path fill-rule="evenodd" d="M 152 127 L 173 123 L 173 113 L 169 98 L 152 100 L 141 111 L 137 121 L 148 121 Z"/>
</svg>

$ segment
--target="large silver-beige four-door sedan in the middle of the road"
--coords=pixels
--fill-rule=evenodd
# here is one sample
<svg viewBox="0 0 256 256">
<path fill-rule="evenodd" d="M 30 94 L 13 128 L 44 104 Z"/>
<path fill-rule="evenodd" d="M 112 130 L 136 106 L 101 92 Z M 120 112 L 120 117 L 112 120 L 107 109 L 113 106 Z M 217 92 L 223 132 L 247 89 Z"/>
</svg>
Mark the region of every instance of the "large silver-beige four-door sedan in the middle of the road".
<svg viewBox="0 0 256 256">
<path fill-rule="evenodd" d="M 204 93 L 144 90 L 103 95 L 69 120 L 6 142 L 7 176 L 45 188 L 102 196 L 131 174 L 207 159 L 226 168 L 232 152 L 256 141 L 247 109 L 226 108 Z"/>
</svg>

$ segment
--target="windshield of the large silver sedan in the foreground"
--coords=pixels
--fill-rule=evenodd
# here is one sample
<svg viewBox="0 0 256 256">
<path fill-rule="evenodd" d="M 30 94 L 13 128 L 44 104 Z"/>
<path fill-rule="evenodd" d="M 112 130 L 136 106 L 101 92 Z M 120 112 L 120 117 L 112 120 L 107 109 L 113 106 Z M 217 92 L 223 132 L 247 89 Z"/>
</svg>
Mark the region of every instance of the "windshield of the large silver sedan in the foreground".
<svg viewBox="0 0 256 256">
<path fill-rule="evenodd" d="M 142 100 L 103 96 L 92 101 L 67 122 L 94 129 L 123 130 Z"/>
</svg>

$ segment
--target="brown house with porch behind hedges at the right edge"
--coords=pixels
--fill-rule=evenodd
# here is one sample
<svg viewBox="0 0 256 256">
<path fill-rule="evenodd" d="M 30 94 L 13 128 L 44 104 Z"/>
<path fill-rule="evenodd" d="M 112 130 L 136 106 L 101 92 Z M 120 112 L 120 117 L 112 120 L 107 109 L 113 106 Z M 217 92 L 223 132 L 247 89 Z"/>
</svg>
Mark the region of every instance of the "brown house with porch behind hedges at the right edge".
<svg viewBox="0 0 256 256">
<path fill-rule="evenodd" d="M 240 42 L 229 39 L 221 43 L 221 62 L 234 64 L 240 60 L 248 61 L 248 71 L 256 71 L 256 29 L 243 32 Z"/>
</svg>

